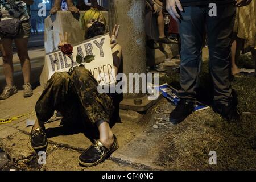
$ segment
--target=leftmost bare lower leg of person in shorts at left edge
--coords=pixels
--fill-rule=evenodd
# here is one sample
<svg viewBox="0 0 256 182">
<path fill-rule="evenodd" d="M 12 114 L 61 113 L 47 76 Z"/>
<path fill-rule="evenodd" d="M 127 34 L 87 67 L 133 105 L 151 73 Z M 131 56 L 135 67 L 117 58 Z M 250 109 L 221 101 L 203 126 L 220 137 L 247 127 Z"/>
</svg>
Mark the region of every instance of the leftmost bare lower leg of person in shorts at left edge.
<svg viewBox="0 0 256 182">
<path fill-rule="evenodd" d="M 3 54 L 3 73 L 7 86 L 13 86 L 13 50 L 12 39 L 2 39 L 1 51 Z"/>
</svg>

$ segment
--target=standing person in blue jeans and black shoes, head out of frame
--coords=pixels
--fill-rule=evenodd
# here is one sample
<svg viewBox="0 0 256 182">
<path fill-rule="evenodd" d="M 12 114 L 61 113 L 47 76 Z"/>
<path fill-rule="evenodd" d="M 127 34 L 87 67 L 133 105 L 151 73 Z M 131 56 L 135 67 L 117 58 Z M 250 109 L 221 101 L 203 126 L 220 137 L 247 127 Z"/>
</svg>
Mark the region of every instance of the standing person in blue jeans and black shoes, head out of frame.
<svg viewBox="0 0 256 182">
<path fill-rule="evenodd" d="M 228 121 L 239 120 L 236 94 L 230 84 L 230 46 L 236 15 L 236 5 L 249 0 L 216 0 L 216 16 L 210 16 L 213 0 L 167 0 L 167 10 L 179 21 L 181 39 L 180 101 L 170 114 L 170 122 L 177 124 L 195 109 L 196 82 L 200 63 L 203 32 L 206 26 L 209 46 L 209 72 L 214 85 L 213 110 Z"/>
</svg>

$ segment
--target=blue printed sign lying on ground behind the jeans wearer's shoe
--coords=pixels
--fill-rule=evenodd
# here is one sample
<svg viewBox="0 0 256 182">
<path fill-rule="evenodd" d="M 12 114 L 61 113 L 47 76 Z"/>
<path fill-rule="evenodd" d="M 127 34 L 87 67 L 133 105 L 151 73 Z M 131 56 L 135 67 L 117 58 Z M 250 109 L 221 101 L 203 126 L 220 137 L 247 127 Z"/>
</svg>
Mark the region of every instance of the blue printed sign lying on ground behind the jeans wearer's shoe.
<svg viewBox="0 0 256 182">
<path fill-rule="evenodd" d="M 174 103 L 174 105 L 177 105 L 178 102 L 180 101 L 180 98 L 177 96 L 178 91 L 175 88 L 173 88 L 172 86 L 170 86 L 168 84 L 163 84 L 163 85 L 159 85 L 159 86 L 154 86 L 154 88 L 159 90 L 160 92 L 162 92 L 163 96 L 168 98 L 168 100 L 170 100 L 172 103 Z M 200 110 L 204 110 L 204 109 L 208 109 L 208 108 L 210 108 L 210 107 L 202 104 L 201 102 L 196 101 L 195 111 L 200 111 Z"/>
</svg>

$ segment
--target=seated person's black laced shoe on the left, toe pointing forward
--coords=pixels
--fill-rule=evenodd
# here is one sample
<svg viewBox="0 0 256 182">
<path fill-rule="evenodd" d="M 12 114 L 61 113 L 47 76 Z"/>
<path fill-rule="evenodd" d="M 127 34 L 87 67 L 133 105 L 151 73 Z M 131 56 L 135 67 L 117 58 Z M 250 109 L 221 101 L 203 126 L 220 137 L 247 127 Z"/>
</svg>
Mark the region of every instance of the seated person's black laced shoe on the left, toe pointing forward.
<svg viewBox="0 0 256 182">
<path fill-rule="evenodd" d="M 30 143 L 35 150 L 47 147 L 48 142 L 46 133 L 40 128 L 31 131 Z"/>
</svg>

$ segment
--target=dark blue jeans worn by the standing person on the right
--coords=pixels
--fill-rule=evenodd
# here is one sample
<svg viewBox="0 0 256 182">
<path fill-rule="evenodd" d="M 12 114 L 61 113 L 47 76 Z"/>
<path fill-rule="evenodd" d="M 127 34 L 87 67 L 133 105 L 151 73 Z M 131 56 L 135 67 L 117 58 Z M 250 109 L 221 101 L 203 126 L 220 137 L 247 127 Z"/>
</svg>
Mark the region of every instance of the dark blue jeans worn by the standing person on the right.
<svg viewBox="0 0 256 182">
<path fill-rule="evenodd" d="M 231 96 L 230 47 L 236 5 L 218 5 L 217 16 L 210 17 L 208 7 L 188 6 L 180 12 L 181 39 L 179 97 L 195 102 L 204 30 L 209 47 L 209 72 L 214 84 L 214 102 L 228 104 Z"/>
</svg>

